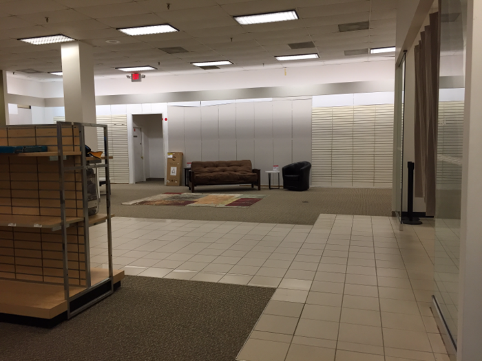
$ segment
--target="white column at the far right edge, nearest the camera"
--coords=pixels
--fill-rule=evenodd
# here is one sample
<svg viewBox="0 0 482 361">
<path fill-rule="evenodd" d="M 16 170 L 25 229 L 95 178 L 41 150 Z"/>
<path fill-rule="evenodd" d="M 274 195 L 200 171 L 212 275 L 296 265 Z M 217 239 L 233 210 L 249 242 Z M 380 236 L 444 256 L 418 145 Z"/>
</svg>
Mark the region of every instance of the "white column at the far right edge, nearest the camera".
<svg viewBox="0 0 482 361">
<path fill-rule="evenodd" d="M 482 355 L 482 1 L 469 0 L 457 360 Z"/>
</svg>

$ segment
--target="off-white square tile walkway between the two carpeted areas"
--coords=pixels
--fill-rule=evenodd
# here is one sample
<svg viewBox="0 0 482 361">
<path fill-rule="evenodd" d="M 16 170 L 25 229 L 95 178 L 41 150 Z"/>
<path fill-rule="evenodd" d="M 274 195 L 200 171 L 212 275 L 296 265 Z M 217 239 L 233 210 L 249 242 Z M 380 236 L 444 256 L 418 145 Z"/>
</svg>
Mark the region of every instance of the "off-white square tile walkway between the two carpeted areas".
<svg viewBox="0 0 482 361">
<path fill-rule="evenodd" d="M 126 274 L 276 287 L 242 361 L 448 361 L 430 311 L 434 230 L 388 217 L 314 226 L 113 219 Z M 106 228 L 91 228 L 105 266 Z"/>
</svg>

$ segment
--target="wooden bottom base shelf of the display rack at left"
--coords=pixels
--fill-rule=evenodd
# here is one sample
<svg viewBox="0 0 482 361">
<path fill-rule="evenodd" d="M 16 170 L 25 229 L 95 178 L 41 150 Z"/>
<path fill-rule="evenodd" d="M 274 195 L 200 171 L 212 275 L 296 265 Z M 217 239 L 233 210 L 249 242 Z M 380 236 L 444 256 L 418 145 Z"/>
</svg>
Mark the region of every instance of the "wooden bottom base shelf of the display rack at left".
<svg viewBox="0 0 482 361">
<path fill-rule="evenodd" d="M 92 268 L 92 285 L 105 280 L 109 270 Z M 122 281 L 124 271 L 114 270 L 114 283 Z M 74 296 L 85 287 L 70 287 Z M 0 313 L 52 319 L 67 311 L 63 285 L 0 280 Z"/>
</svg>

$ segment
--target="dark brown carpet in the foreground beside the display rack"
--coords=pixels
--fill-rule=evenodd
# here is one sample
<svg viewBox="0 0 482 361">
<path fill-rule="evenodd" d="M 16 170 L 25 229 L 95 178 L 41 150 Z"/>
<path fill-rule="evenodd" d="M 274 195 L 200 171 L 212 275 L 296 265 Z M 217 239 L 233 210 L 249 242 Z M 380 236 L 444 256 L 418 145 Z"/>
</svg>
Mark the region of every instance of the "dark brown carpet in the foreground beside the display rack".
<svg viewBox="0 0 482 361">
<path fill-rule="evenodd" d="M 274 292 L 127 276 L 54 329 L 0 322 L 0 360 L 234 361 Z"/>
</svg>

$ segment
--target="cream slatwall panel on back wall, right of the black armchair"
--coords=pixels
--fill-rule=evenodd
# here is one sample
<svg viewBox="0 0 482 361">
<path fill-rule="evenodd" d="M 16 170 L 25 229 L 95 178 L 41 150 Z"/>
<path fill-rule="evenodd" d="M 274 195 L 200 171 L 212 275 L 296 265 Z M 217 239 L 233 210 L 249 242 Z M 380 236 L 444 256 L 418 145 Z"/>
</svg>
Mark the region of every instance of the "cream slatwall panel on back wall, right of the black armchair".
<svg viewBox="0 0 482 361">
<path fill-rule="evenodd" d="M 393 105 L 313 108 L 315 186 L 392 186 Z"/>
</svg>

